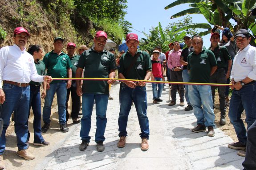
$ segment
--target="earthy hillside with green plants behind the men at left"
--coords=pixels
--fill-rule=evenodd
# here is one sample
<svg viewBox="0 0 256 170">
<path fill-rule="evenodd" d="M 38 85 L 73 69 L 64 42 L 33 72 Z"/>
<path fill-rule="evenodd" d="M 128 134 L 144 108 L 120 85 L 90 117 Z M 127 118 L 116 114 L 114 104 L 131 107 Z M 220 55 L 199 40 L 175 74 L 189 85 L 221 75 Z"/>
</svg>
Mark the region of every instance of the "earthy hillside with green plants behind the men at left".
<svg viewBox="0 0 256 170">
<path fill-rule="evenodd" d="M 40 44 L 46 52 L 53 49 L 53 39 L 57 36 L 65 39 L 64 47 L 68 42 L 90 46 L 93 35 L 100 29 L 106 31 L 111 40 L 120 43 L 125 35 L 125 28 L 129 31 L 127 26 L 120 23 L 130 24 L 123 20 L 125 12 L 122 8 L 126 8 L 126 0 L 105 1 L 109 6 L 122 5 L 119 14 L 109 8 L 96 11 L 95 9 L 102 8 L 99 6 L 102 4 L 92 4 L 88 0 L 0 0 L 0 47 L 12 45 L 13 30 L 20 26 L 31 34 L 27 47 L 30 44 Z M 100 15 L 106 18 L 101 19 L 98 17 Z M 110 22 L 111 20 L 117 22 Z"/>
</svg>

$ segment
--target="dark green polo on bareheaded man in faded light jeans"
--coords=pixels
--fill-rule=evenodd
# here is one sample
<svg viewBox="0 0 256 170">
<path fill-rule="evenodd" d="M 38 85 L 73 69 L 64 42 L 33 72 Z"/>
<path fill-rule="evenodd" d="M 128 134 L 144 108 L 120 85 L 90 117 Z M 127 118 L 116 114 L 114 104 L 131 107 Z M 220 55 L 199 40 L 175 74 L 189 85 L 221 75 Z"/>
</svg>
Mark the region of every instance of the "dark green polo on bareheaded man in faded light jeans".
<svg viewBox="0 0 256 170">
<path fill-rule="evenodd" d="M 211 67 L 217 65 L 215 55 L 211 50 L 203 48 L 198 55 L 195 51 L 187 57 L 187 69 L 190 70 L 189 82 L 210 83 Z"/>
</svg>

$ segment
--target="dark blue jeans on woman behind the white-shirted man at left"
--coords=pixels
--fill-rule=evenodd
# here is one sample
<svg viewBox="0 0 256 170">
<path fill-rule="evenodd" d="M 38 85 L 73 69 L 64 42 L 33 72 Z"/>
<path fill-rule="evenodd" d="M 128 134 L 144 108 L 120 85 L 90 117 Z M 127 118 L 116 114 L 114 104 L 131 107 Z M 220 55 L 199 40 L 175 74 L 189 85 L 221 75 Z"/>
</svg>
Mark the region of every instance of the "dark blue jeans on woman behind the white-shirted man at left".
<svg viewBox="0 0 256 170">
<path fill-rule="evenodd" d="M 30 115 L 30 108 L 32 107 L 34 120 L 33 120 L 33 128 L 34 128 L 34 143 L 41 143 L 44 142 L 44 138 L 42 136 L 41 131 L 41 96 L 40 96 L 40 86 L 35 86 L 30 84 L 30 101 L 29 101 L 29 109 L 28 109 L 28 118 Z M 28 121 L 26 123 L 28 125 Z M 28 138 L 29 141 L 30 133 L 28 131 Z"/>
</svg>

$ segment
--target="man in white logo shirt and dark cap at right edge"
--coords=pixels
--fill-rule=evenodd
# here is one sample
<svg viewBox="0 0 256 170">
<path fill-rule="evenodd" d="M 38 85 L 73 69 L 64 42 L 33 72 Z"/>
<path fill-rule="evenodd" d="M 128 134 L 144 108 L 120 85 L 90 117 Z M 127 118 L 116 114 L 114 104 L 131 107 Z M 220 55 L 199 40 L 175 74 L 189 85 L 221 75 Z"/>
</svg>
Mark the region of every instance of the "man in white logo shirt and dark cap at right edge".
<svg viewBox="0 0 256 170">
<path fill-rule="evenodd" d="M 240 150 L 238 155 L 245 156 L 250 150 L 256 147 L 250 141 L 247 143 L 246 128 L 241 119 L 243 111 L 245 111 L 247 129 L 252 126 L 256 120 L 256 47 L 250 45 L 250 33 L 246 29 L 240 29 L 235 35 L 237 52 L 231 71 L 231 89 L 232 96 L 230 99 L 230 107 L 228 117 L 230 123 L 236 130 L 238 142 L 228 144 L 229 148 Z M 255 126 L 255 124 L 254 124 Z M 249 147 L 248 147 L 249 145 Z M 255 160 L 255 153 L 249 152 Z M 254 169 L 254 168 L 252 168 Z"/>
</svg>

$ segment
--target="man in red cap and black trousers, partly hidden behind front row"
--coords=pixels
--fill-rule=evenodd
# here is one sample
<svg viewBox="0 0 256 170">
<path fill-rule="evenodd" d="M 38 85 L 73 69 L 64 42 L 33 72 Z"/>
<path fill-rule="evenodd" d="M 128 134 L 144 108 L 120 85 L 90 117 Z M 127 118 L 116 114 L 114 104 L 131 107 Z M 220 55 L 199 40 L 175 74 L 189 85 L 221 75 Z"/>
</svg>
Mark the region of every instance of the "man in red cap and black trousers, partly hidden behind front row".
<svg viewBox="0 0 256 170">
<path fill-rule="evenodd" d="M 74 55 L 76 50 L 76 44 L 75 43 L 68 43 L 66 50 L 68 52 L 67 55 L 69 55 L 69 59 L 71 60 L 71 63 L 73 64 L 72 69 L 72 77 L 76 77 L 76 71 L 77 71 L 77 63 L 80 58 L 80 55 Z M 71 87 L 67 89 L 67 100 L 66 100 L 66 122 L 68 122 L 69 119 L 69 112 L 68 112 L 68 102 L 69 102 L 69 95 L 71 93 L 71 99 L 72 99 L 72 108 L 71 108 L 71 117 L 73 123 L 79 123 L 80 119 L 78 118 L 80 107 L 81 107 L 81 97 L 77 95 L 77 84 L 76 80 L 72 80 Z"/>
</svg>

